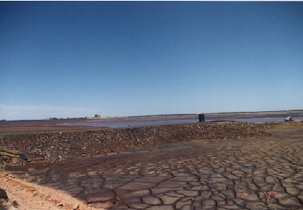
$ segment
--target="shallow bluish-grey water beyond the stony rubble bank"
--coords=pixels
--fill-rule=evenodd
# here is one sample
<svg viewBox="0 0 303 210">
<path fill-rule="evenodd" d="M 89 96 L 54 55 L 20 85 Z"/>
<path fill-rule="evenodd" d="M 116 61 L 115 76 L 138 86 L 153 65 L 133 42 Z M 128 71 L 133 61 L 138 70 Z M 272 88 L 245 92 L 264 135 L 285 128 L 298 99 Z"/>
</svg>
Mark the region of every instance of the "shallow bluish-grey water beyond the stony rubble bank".
<svg viewBox="0 0 303 210">
<path fill-rule="evenodd" d="M 284 117 L 259 117 L 259 118 L 241 118 L 241 119 L 206 119 L 206 122 L 212 121 L 237 121 L 237 122 L 283 122 Z M 294 120 L 303 120 L 303 117 L 294 117 Z M 79 125 L 79 126 L 96 126 L 109 128 L 127 128 L 138 126 L 152 126 L 152 125 L 174 125 L 181 123 L 195 123 L 198 118 L 191 119 L 173 119 L 173 120 L 146 120 L 146 121 L 83 121 L 74 123 L 63 123 L 60 125 Z"/>
</svg>

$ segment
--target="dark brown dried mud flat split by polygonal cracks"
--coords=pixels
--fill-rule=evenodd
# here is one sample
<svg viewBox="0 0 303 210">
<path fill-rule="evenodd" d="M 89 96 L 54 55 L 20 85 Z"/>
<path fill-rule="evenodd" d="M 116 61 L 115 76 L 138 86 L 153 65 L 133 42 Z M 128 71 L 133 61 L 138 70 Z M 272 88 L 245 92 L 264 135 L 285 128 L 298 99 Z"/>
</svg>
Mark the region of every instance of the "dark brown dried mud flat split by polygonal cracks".
<svg viewBox="0 0 303 210">
<path fill-rule="evenodd" d="M 82 158 L 19 175 L 107 209 L 303 209 L 303 128 Z"/>
</svg>

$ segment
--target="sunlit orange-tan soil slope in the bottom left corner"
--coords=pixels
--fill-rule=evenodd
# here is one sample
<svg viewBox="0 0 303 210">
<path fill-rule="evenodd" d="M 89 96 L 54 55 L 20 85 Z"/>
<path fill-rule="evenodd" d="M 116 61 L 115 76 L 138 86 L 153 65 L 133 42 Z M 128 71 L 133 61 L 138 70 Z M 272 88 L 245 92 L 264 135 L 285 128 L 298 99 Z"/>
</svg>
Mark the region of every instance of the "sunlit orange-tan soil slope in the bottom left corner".
<svg viewBox="0 0 303 210">
<path fill-rule="evenodd" d="M 45 186 L 39 186 L 16 178 L 9 173 L 0 173 L 0 188 L 5 189 L 9 201 L 0 209 L 18 210 L 94 210 L 72 196 Z M 16 208 L 12 208 L 15 206 Z M 102 209 L 101 209 L 102 210 Z"/>
</svg>

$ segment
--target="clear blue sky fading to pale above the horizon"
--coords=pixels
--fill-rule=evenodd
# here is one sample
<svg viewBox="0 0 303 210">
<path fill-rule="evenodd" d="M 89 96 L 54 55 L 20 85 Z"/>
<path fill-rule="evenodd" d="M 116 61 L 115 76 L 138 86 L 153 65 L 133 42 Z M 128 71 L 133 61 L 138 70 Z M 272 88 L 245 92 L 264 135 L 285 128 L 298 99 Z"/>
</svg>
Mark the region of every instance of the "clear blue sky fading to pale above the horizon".
<svg viewBox="0 0 303 210">
<path fill-rule="evenodd" d="M 303 108 L 303 2 L 0 2 L 0 119 Z"/>
</svg>

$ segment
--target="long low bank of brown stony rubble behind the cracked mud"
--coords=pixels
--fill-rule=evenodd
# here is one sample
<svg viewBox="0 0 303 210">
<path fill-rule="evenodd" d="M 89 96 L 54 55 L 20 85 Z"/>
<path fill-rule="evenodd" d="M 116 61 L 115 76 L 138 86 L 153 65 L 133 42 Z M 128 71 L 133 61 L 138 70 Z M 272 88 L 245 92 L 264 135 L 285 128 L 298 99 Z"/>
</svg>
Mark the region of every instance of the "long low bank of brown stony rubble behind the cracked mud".
<svg viewBox="0 0 303 210">
<path fill-rule="evenodd" d="M 52 132 L 0 136 L 2 149 L 27 154 L 32 161 L 57 162 L 110 152 L 131 151 L 138 147 L 181 143 L 203 139 L 235 139 L 268 135 L 272 124 L 190 123 L 95 131 Z M 2 164 L 10 159 L 2 157 Z M 20 164 L 20 163 L 19 163 Z"/>
</svg>

